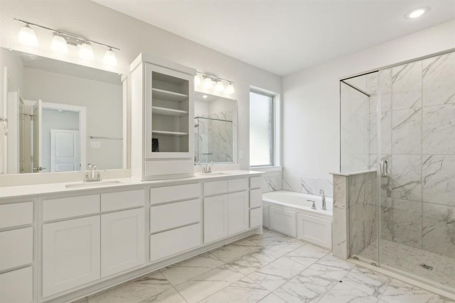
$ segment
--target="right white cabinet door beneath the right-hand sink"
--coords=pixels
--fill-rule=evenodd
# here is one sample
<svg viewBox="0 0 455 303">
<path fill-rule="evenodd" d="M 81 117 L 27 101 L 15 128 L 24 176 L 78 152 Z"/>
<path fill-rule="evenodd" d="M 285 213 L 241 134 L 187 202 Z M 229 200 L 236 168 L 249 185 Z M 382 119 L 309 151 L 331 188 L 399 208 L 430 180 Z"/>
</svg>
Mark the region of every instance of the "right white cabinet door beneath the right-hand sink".
<svg viewBox="0 0 455 303">
<path fill-rule="evenodd" d="M 229 194 L 229 234 L 248 229 L 248 192 L 241 191 Z"/>
</svg>

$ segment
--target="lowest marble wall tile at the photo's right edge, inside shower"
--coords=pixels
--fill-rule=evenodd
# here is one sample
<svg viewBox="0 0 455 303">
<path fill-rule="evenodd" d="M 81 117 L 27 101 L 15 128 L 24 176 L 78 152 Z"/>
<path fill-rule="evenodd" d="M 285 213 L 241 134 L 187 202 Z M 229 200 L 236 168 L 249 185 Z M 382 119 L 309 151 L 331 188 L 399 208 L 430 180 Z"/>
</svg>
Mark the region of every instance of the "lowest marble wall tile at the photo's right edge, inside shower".
<svg viewBox="0 0 455 303">
<path fill-rule="evenodd" d="M 423 249 L 455 258 L 455 207 L 423 204 Z"/>
</svg>

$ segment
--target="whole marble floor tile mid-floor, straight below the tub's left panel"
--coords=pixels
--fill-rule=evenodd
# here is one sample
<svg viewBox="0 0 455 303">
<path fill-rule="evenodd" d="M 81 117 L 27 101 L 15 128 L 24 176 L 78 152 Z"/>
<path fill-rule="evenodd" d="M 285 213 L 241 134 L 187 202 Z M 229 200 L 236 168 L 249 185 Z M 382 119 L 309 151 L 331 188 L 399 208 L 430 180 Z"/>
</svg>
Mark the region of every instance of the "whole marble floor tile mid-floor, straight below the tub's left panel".
<svg viewBox="0 0 455 303">
<path fill-rule="evenodd" d="M 305 265 L 301 265 L 289 258 L 281 257 L 248 275 L 248 278 L 273 291 L 305 268 Z"/>
</svg>

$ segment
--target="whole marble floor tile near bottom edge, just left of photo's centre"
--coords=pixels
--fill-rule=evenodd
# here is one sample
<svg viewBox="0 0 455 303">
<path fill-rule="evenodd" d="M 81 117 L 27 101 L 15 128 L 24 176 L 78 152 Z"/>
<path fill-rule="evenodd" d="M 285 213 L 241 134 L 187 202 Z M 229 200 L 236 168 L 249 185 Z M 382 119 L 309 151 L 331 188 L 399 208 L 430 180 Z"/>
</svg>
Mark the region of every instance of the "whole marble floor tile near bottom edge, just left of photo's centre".
<svg viewBox="0 0 455 303">
<path fill-rule="evenodd" d="M 195 303 L 240 280 L 244 275 L 228 265 L 212 269 L 177 285 L 175 288 L 188 301 Z"/>
</svg>

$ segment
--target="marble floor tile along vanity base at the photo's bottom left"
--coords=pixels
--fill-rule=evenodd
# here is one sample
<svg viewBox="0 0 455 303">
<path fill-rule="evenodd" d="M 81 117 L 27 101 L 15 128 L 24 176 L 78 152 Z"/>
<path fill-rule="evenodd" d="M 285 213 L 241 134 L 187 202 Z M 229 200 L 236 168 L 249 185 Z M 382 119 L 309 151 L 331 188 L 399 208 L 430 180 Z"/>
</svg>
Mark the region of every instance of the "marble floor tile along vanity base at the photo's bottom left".
<svg viewBox="0 0 455 303">
<path fill-rule="evenodd" d="M 154 272 L 130 283 L 122 284 L 106 292 L 88 297 L 89 303 L 139 303 L 157 297 L 172 284 L 160 272 Z"/>
</svg>

